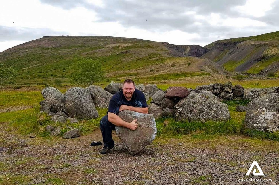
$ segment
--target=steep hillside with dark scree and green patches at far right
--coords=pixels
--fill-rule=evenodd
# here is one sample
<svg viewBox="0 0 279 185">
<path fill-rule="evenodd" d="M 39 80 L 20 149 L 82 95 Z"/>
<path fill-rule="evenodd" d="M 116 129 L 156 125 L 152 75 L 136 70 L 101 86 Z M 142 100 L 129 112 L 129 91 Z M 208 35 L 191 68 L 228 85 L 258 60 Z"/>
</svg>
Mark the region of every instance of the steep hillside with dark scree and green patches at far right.
<svg viewBox="0 0 279 185">
<path fill-rule="evenodd" d="M 215 41 L 201 56 L 232 72 L 279 74 L 279 32 Z"/>
</svg>

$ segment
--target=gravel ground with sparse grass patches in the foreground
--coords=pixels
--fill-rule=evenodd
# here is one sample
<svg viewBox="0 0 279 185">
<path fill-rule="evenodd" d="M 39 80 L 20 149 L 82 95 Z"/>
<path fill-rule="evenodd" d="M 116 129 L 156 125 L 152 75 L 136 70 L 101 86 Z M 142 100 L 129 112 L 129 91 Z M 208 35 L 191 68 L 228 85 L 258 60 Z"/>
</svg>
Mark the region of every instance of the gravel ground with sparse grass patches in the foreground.
<svg viewBox="0 0 279 185">
<path fill-rule="evenodd" d="M 29 138 L 1 123 L 0 184 L 278 184 L 279 143 L 244 136 L 156 137 L 137 156 L 115 133 L 101 155 L 99 130 L 74 139 Z M 265 176 L 245 176 L 257 161 Z M 253 171 L 253 170 L 252 170 Z M 272 182 L 239 182 L 240 179 Z"/>
</svg>

